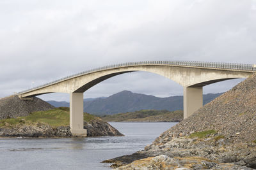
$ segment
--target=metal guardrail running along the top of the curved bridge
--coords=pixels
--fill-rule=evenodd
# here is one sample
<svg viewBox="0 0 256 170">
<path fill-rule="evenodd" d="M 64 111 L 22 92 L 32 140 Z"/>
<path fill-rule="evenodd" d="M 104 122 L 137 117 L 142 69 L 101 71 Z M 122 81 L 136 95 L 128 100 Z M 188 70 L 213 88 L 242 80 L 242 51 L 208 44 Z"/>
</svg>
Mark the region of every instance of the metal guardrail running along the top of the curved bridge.
<svg viewBox="0 0 256 170">
<path fill-rule="evenodd" d="M 84 74 L 93 73 L 95 71 L 103 71 L 106 69 L 113 69 L 118 67 L 127 67 L 127 66 L 143 66 L 143 65 L 167 65 L 167 66 L 190 66 L 190 67 L 209 67 L 209 68 L 217 68 L 217 69 L 233 69 L 233 70 L 241 70 L 241 71 L 255 71 L 256 72 L 256 64 L 232 64 L 225 62 L 198 62 L 198 61 L 141 61 L 141 62 L 125 62 L 122 64 L 113 64 L 105 67 L 98 67 L 95 69 L 90 69 L 88 71 L 83 71 L 81 73 L 72 74 L 70 76 L 66 76 L 64 78 L 60 78 L 58 80 L 51 81 L 49 83 L 45 83 L 44 85 L 40 85 L 38 87 L 34 87 L 32 89 L 24 90 L 19 92 L 18 94 L 22 94 L 24 92 L 29 92 L 32 90 L 40 89 L 42 87 L 47 87 L 54 83 L 58 83 L 60 81 L 68 80 L 70 78 L 74 78 L 76 76 L 82 76 Z"/>
</svg>

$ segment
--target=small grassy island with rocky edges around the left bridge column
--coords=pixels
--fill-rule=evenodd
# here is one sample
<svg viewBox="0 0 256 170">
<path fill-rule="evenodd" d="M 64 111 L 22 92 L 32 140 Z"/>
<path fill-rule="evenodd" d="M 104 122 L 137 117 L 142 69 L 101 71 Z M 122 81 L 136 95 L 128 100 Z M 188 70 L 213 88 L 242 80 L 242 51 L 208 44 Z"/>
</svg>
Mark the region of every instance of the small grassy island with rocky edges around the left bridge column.
<svg viewBox="0 0 256 170">
<path fill-rule="evenodd" d="M 72 137 L 69 108 L 54 108 L 35 97 L 22 101 L 17 96 L 0 99 L 0 137 L 66 138 Z M 101 118 L 84 113 L 88 137 L 124 136 Z"/>
</svg>

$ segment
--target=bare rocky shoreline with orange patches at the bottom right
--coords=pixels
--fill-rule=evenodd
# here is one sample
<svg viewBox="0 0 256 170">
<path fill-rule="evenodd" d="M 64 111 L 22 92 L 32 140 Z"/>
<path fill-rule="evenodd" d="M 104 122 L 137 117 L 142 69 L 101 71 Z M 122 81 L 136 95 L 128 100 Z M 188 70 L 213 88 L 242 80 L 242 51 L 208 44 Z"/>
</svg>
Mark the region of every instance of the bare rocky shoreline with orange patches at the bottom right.
<svg viewBox="0 0 256 170">
<path fill-rule="evenodd" d="M 218 136 L 172 138 L 153 143 L 132 155 L 104 160 L 117 169 L 252 169 L 256 168 L 256 143 L 230 143 Z M 164 168 L 163 168 L 164 169 Z"/>
</svg>

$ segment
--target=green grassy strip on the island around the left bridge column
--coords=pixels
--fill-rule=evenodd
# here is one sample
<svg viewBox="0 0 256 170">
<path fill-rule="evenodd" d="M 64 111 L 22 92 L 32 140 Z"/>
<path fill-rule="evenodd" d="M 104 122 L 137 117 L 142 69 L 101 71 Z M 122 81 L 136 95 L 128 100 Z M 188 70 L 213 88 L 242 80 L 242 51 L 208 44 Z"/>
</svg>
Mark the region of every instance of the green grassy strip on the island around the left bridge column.
<svg viewBox="0 0 256 170">
<path fill-rule="evenodd" d="M 100 118 L 84 113 L 84 121 L 92 122 Z M 48 124 L 52 127 L 69 125 L 69 108 L 61 107 L 48 111 L 36 111 L 27 117 L 7 118 L 0 120 L 0 127 L 15 127 L 16 125 Z"/>
</svg>

